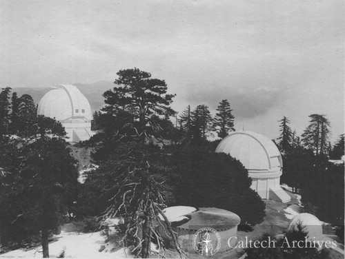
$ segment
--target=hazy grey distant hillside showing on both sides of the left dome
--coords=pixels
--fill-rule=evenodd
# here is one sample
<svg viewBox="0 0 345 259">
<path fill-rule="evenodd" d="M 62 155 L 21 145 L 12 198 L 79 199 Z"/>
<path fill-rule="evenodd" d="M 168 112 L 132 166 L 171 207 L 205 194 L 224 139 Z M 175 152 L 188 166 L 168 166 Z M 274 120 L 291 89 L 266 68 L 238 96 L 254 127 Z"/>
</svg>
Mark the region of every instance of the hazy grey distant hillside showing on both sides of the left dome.
<svg viewBox="0 0 345 259">
<path fill-rule="evenodd" d="M 99 110 L 99 108 L 104 104 L 104 98 L 102 96 L 103 92 L 114 87 L 114 83 L 110 81 L 98 81 L 96 83 L 73 83 L 78 87 L 80 92 L 82 92 L 88 101 L 90 102 L 92 111 Z M 39 103 L 44 94 L 46 94 L 52 88 L 50 87 L 37 87 L 37 88 L 28 88 L 28 87 L 19 87 L 13 88 L 12 92 L 17 92 L 18 96 L 22 94 L 30 94 L 34 103 Z"/>
</svg>

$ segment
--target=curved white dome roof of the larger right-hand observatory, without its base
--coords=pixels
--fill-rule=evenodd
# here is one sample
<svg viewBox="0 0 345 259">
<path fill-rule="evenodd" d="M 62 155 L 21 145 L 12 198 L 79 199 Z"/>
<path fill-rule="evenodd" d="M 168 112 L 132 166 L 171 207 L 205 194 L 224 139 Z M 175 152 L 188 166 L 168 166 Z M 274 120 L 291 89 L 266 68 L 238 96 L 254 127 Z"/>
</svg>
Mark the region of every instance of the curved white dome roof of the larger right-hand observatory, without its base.
<svg viewBox="0 0 345 259">
<path fill-rule="evenodd" d="M 233 132 L 219 143 L 215 152 L 230 154 L 251 172 L 277 171 L 282 167 L 275 143 L 255 132 Z"/>
</svg>

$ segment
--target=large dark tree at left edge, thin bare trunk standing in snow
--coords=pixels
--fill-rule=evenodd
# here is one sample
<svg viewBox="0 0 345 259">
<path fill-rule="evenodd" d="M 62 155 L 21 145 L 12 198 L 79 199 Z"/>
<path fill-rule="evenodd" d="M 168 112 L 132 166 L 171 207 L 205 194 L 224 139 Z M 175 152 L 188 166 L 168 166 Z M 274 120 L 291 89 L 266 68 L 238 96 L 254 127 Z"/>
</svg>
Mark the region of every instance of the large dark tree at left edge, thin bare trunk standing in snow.
<svg viewBox="0 0 345 259">
<path fill-rule="evenodd" d="M 39 116 L 30 135 L 6 145 L 1 174 L 1 242 L 41 236 L 43 258 L 49 257 L 48 237 L 59 229 L 75 199 L 76 161 L 70 155 L 61 123 Z"/>
</svg>

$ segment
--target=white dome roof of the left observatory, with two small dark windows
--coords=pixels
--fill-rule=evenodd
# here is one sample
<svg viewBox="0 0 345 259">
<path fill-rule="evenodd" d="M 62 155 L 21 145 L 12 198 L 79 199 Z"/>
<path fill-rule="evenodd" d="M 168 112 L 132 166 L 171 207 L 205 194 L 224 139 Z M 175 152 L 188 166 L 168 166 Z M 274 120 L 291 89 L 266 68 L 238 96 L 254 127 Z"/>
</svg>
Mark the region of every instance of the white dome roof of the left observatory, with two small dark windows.
<svg viewBox="0 0 345 259">
<path fill-rule="evenodd" d="M 75 85 L 57 85 L 46 93 L 39 101 L 37 114 L 57 121 L 71 118 L 92 120 L 90 103 Z"/>
</svg>

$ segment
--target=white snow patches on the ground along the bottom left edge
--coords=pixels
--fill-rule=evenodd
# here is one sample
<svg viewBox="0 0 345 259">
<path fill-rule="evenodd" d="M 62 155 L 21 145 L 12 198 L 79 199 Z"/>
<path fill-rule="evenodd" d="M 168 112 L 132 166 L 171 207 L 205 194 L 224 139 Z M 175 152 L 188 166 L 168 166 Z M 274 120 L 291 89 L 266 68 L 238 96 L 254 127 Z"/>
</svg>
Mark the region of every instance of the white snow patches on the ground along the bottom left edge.
<svg viewBox="0 0 345 259">
<path fill-rule="evenodd" d="M 129 251 L 119 249 L 118 251 L 110 252 L 110 247 L 104 242 L 104 236 L 101 231 L 95 233 L 79 234 L 77 232 L 64 232 L 55 236 L 56 242 L 49 243 L 49 255 L 51 258 L 59 256 L 61 251 L 65 249 L 66 258 L 99 258 L 104 256 L 111 256 L 112 258 L 132 258 Z M 102 252 L 99 252 L 101 246 L 105 246 Z M 25 250 L 17 249 L 8 253 L 1 254 L 0 258 L 42 258 L 42 247 Z"/>
</svg>

